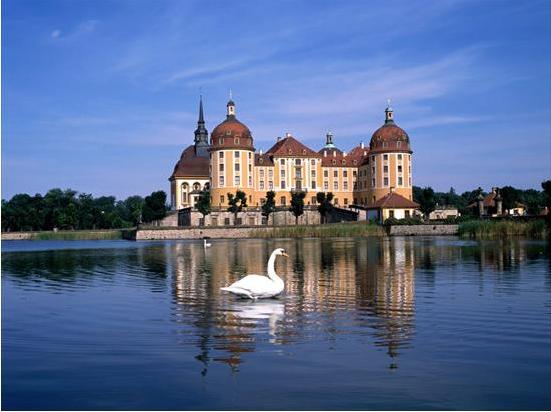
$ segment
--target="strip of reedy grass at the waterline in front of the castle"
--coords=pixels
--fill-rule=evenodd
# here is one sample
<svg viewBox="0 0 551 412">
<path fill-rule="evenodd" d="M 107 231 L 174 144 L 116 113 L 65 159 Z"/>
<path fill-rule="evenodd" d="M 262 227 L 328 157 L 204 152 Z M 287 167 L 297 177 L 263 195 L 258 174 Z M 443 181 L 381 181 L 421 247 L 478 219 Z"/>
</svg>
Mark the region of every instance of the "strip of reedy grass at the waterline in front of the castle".
<svg viewBox="0 0 551 412">
<path fill-rule="evenodd" d="M 366 222 L 330 223 L 315 226 L 274 227 L 272 230 L 258 230 L 251 237 L 285 238 L 285 237 L 353 237 L 384 235 L 384 229 Z"/>
</svg>

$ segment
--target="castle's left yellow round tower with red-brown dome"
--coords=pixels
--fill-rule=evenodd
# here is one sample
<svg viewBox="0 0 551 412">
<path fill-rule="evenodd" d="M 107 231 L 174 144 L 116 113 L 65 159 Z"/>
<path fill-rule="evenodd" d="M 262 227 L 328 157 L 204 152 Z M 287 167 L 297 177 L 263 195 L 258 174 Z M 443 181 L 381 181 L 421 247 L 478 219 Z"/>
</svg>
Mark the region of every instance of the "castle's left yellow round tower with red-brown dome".
<svg viewBox="0 0 551 412">
<path fill-rule="evenodd" d="M 214 128 L 210 138 L 211 204 L 228 206 L 228 193 L 237 190 L 254 195 L 254 146 L 251 131 L 236 118 L 235 103 L 226 105 L 226 120 Z"/>
</svg>

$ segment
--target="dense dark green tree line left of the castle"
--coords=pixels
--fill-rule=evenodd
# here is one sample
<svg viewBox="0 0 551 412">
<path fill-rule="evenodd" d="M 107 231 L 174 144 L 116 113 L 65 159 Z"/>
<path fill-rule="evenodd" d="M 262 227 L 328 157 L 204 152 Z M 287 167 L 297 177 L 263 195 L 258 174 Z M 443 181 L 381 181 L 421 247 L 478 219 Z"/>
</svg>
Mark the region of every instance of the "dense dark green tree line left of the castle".
<svg viewBox="0 0 551 412">
<path fill-rule="evenodd" d="M 162 190 L 117 201 L 56 188 L 44 196 L 21 193 L 2 199 L 2 231 L 120 229 L 162 219 L 167 210 Z"/>
</svg>

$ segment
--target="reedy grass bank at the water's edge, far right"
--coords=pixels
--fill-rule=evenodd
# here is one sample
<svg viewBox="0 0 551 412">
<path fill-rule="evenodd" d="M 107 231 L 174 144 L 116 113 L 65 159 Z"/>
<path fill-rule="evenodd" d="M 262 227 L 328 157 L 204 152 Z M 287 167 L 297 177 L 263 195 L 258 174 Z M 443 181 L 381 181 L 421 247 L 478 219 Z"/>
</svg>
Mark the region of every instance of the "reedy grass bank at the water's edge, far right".
<svg viewBox="0 0 551 412">
<path fill-rule="evenodd" d="M 470 220 L 459 224 L 459 236 L 470 238 L 500 238 L 527 236 L 542 239 L 548 229 L 543 219 L 526 222 L 511 220 Z"/>
</svg>

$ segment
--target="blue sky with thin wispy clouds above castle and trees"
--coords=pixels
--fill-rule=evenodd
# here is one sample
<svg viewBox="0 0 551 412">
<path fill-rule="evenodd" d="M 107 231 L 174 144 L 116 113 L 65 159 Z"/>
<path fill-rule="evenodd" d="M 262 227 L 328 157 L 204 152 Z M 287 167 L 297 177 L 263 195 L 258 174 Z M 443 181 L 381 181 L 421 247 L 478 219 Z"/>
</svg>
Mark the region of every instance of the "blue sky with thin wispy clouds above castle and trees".
<svg viewBox="0 0 551 412">
<path fill-rule="evenodd" d="M 387 98 L 414 184 L 551 178 L 551 2 L 2 2 L 2 197 L 169 191 L 228 90 L 255 146 L 365 143 Z"/>
</svg>

